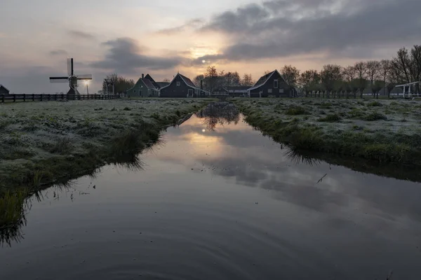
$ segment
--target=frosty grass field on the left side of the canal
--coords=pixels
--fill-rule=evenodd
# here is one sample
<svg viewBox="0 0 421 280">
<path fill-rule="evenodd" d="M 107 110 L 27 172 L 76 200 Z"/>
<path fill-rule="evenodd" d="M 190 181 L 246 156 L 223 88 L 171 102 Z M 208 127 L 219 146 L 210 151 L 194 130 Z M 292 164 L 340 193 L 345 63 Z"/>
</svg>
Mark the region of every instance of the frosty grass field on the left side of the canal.
<svg viewBox="0 0 421 280">
<path fill-rule="evenodd" d="M 85 100 L 0 104 L 0 194 L 87 174 L 105 164 L 136 164 L 154 144 L 210 99 Z"/>
</svg>

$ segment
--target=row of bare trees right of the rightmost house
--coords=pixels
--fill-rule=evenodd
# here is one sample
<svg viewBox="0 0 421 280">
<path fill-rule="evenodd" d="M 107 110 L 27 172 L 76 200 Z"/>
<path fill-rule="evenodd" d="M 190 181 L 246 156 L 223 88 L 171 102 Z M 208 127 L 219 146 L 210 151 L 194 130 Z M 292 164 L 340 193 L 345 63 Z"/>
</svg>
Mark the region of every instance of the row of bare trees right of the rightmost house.
<svg viewBox="0 0 421 280">
<path fill-rule="evenodd" d="M 421 80 L 421 45 L 414 45 L 410 50 L 401 48 L 391 59 L 361 61 L 345 67 L 326 64 L 321 71 L 300 72 L 295 66 L 286 65 L 281 74 L 306 97 L 326 94 L 328 98 L 331 95 L 356 98 L 358 93 L 362 98 L 364 90 L 370 90 L 377 98 L 381 92 L 390 96 L 396 85 Z M 415 93 L 420 93 L 420 84 L 415 85 Z"/>
</svg>

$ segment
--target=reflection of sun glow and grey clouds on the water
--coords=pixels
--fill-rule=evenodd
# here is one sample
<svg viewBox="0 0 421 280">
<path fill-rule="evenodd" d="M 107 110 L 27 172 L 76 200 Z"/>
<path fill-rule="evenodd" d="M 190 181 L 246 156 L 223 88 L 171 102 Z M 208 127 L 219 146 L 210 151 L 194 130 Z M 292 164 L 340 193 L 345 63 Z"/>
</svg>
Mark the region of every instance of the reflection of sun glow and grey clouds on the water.
<svg viewBox="0 0 421 280">
<path fill-rule="evenodd" d="M 179 131 L 169 131 L 168 142 L 174 141 L 184 154 L 194 152 L 188 158 L 180 156 L 180 151 L 164 152 L 159 158 L 187 168 L 205 165 L 213 174 L 234 179 L 241 186 L 270 190 L 277 200 L 314 211 L 335 214 L 341 209 L 358 209 L 387 220 L 408 216 L 421 221 L 420 185 L 300 158 L 241 122 L 215 127 L 206 134 L 202 129 L 203 124 L 192 117 Z"/>
</svg>

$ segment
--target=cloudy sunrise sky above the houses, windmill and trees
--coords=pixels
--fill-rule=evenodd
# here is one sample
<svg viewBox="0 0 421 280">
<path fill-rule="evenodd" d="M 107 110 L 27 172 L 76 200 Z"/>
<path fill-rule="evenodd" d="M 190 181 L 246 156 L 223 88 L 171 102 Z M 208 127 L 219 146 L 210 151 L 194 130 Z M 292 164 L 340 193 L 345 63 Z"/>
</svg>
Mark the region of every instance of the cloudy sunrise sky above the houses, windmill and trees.
<svg viewBox="0 0 421 280">
<path fill-rule="evenodd" d="M 15 93 L 66 92 L 48 77 L 66 75 L 67 57 L 97 92 L 109 73 L 159 81 L 214 65 L 257 80 L 421 43 L 420 0 L 2 0 L 0 10 L 0 84 Z"/>
</svg>

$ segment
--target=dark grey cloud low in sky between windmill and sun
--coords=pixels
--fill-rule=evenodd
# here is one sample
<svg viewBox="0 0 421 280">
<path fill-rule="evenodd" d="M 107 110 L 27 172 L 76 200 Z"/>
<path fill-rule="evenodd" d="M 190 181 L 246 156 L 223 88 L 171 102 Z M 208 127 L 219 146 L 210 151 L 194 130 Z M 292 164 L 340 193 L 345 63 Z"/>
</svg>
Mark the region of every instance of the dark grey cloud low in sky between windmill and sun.
<svg viewBox="0 0 421 280">
<path fill-rule="evenodd" d="M 93 62 L 91 66 L 98 69 L 110 69 L 116 73 L 136 73 L 136 69 L 171 69 L 182 63 L 180 57 L 153 57 L 143 55 L 142 49 L 131 38 L 117 38 L 102 43 L 109 47 L 105 58 Z"/>
</svg>

